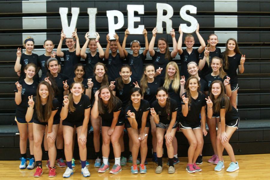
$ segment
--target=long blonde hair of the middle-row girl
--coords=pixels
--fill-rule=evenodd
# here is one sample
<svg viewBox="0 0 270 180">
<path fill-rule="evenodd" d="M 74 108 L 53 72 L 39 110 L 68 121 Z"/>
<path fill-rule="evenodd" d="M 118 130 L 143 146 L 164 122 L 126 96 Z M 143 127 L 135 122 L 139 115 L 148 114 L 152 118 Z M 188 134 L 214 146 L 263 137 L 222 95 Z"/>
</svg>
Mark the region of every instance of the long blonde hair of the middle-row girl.
<svg viewBox="0 0 270 180">
<path fill-rule="evenodd" d="M 170 61 L 167 66 L 166 66 L 166 73 L 165 73 L 165 80 L 164 80 L 164 85 L 163 87 L 165 89 L 169 89 L 170 88 L 170 84 L 171 84 L 171 79 L 169 77 L 169 74 L 168 74 L 168 68 L 169 66 L 172 65 L 176 72 L 174 74 L 174 78 L 173 78 L 173 83 L 172 83 L 172 89 L 178 93 L 178 90 L 179 90 L 179 86 L 180 86 L 180 74 L 179 74 L 179 68 L 178 68 L 178 65 L 176 64 L 176 62 L 174 61 Z"/>
</svg>

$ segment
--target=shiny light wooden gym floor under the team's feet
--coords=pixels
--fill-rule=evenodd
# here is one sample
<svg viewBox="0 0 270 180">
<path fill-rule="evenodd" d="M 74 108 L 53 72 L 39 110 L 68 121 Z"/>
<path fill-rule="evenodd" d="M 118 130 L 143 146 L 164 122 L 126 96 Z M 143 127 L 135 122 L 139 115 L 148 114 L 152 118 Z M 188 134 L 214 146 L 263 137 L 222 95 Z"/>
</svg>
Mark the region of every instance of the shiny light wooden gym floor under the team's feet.
<svg viewBox="0 0 270 180">
<path fill-rule="evenodd" d="M 226 168 L 229 166 L 230 160 L 229 156 L 224 156 L 224 165 L 225 168 L 221 170 L 220 172 L 214 171 L 214 164 L 207 163 L 206 161 L 210 157 L 203 157 L 203 164 L 200 165 L 202 168 L 201 172 L 196 173 L 187 173 L 185 170 L 186 164 L 187 164 L 187 158 L 179 158 L 180 163 L 176 164 L 176 172 L 174 174 L 168 174 L 168 166 L 167 158 L 163 159 L 163 171 L 161 174 L 155 173 L 155 168 L 157 165 L 151 161 L 151 159 L 148 160 L 147 167 L 147 173 L 146 174 L 131 174 L 130 173 L 130 167 L 131 164 L 127 163 L 127 166 L 122 167 L 122 172 L 118 174 L 110 174 L 109 171 L 106 173 L 98 173 L 98 168 L 94 167 L 94 160 L 90 161 L 90 166 L 88 167 L 88 170 L 91 173 L 91 176 L 88 178 L 84 178 L 81 175 L 81 165 L 79 164 L 79 160 L 75 161 L 76 167 L 73 168 L 74 174 L 68 178 L 70 180 L 73 179 L 99 179 L 99 180 L 109 180 L 109 179 L 123 179 L 128 180 L 131 179 L 244 179 L 244 180 L 265 180 L 270 178 L 270 154 L 257 154 L 257 155 L 236 155 L 236 160 L 239 163 L 240 169 L 228 173 L 226 172 Z M 110 168 L 112 167 L 112 164 L 114 163 L 114 160 L 110 161 Z M 35 173 L 34 170 L 20 170 L 19 169 L 19 163 L 20 161 L 0 161 L 0 174 L 1 179 L 4 180 L 11 180 L 11 179 L 66 179 L 62 177 L 62 174 L 65 171 L 65 168 L 56 168 L 57 176 L 54 178 L 48 177 L 48 169 L 46 168 L 46 161 L 43 161 L 43 175 L 40 178 L 34 178 L 33 174 Z M 28 163 L 28 161 L 27 161 Z"/>
</svg>

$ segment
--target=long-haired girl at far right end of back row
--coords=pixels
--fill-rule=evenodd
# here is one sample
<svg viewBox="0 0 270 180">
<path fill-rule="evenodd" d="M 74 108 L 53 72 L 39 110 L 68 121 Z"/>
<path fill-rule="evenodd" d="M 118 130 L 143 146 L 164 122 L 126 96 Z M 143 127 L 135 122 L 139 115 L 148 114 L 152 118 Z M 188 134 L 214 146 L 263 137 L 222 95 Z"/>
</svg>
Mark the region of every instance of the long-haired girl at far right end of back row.
<svg viewBox="0 0 270 180">
<path fill-rule="evenodd" d="M 226 49 L 223 54 L 224 70 L 231 78 L 232 95 L 230 96 L 230 102 L 236 109 L 236 97 L 238 90 L 237 69 L 239 73 L 244 73 L 245 55 L 241 55 L 238 48 L 238 44 L 235 39 L 229 38 L 226 42 Z"/>
</svg>

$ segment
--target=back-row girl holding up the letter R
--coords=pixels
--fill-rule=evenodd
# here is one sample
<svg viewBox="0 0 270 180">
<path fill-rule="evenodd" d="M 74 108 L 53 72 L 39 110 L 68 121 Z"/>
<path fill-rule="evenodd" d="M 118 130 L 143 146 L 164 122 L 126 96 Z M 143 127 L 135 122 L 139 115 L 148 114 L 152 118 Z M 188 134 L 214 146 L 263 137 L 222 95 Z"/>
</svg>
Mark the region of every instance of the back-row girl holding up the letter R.
<svg viewBox="0 0 270 180">
<path fill-rule="evenodd" d="M 177 42 L 175 39 L 174 29 L 171 30 L 170 34 L 173 38 L 173 51 L 170 52 L 168 42 L 165 38 L 158 39 L 158 49 L 159 52 L 154 50 L 155 39 L 157 35 L 158 29 L 154 28 L 152 33 L 153 37 L 149 43 L 149 54 L 152 57 L 153 64 L 155 69 L 157 70 L 159 67 L 165 69 L 169 61 L 172 61 L 173 58 L 177 55 Z M 165 76 L 165 71 L 161 72 L 160 77 Z"/>
</svg>

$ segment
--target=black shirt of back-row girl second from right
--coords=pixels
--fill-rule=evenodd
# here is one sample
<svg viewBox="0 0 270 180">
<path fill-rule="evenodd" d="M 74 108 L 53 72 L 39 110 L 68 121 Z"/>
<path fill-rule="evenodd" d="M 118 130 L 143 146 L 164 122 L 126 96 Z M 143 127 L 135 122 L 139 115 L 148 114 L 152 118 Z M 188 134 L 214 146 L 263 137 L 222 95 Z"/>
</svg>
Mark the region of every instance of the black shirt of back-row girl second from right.
<svg viewBox="0 0 270 180">
<path fill-rule="evenodd" d="M 204 58 L 204 51 L 205 50 L 203 50 L 203 52 L 200 53 L 199 60 Z M 221 51 L 220 51 L 219 47 L 216 47 L 216 49 L 213 52 L 209 52 L 209 66 L 208 66 L 207 62 L 205 61 L 204 67 L 201 70 L 201 77 L 204 77 L 207 74 L 212 72 L 211 62 L 212 62 L 212 58 L 215 56 L 222 58 Z"/>
</svg>

